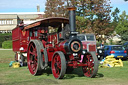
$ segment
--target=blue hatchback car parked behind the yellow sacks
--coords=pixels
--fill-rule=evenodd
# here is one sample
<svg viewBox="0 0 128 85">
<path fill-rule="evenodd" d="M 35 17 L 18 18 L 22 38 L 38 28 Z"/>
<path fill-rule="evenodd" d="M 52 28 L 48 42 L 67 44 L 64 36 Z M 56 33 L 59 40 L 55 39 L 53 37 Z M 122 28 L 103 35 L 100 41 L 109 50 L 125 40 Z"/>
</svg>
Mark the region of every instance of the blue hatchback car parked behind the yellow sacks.
<svg viewBox="0 0 128 85">
<path fill-rule="evenodd" d="M 113 55 L 115 58 L 127 59 L 127 51 L 122 45 L 104 46 L 104 57 L 108 55 Z"/>
</svg>

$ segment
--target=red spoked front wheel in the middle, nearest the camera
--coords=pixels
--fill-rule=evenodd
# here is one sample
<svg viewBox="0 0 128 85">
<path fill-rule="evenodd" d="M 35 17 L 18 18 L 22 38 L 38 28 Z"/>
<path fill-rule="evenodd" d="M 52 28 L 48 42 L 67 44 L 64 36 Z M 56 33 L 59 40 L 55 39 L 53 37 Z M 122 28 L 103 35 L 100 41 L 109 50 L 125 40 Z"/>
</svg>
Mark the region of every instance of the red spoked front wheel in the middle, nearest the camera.
<svg viewBox="0 0 128 85">
<path fill-rule="evenodd" d="M 61 51 L 55 52 L 52 58 L 52 73 L 56 79 L 62 79 L 66 72 L 66 60 L 65 56 Z"/>
</svg>

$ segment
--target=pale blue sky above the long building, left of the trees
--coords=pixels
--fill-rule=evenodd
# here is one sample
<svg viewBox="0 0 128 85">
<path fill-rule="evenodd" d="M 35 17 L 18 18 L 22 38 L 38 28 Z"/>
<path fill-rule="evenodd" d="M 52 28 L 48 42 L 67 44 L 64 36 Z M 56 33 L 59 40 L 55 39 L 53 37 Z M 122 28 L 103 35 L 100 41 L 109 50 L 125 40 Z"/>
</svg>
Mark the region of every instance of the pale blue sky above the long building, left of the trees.
<svg viewBox="0 0 128 85">
<path fill-rule="evenodd" d="M 0 13 L 5 12 L 37 12 L 37 5 L 40 11 L 45 9 L 46 0 L 0 0 Z"/>
</svg>

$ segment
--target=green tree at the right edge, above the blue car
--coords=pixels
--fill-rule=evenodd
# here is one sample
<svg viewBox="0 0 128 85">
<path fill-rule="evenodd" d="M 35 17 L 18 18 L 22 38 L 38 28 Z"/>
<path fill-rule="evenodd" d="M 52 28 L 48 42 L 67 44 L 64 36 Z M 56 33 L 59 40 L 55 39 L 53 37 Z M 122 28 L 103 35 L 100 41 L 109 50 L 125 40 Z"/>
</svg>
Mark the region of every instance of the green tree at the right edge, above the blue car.
<svg viewBox="0 0 128 85">
<path fill-rule="evenodd" d="M 119 23 L 116 27 L 116 32 L 119 34 L 123 41 L 128 41 L 128 15 L 123 11 L 119 17 Z"/>
</svg>

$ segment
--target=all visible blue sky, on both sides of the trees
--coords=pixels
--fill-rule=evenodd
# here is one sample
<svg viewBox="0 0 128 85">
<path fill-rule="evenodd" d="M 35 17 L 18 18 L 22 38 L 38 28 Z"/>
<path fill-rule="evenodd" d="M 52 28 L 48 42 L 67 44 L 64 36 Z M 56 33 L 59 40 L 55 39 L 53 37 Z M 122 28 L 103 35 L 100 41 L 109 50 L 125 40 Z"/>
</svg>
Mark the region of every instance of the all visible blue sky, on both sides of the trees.
<svg viewBox="0 0 128 85">
<path fill-rule="evenodd" d="M 128 1 L 124 0 L 110 0 L 112 11 L 116 7 L 122 11 L 126 11 L 128 14 Z M 0 0 L 0 13 L 8 12 L 36 12 L 37 5 L 40 6 L 40 11 L 44 12 L 46 0 Z"/>
</svg>

